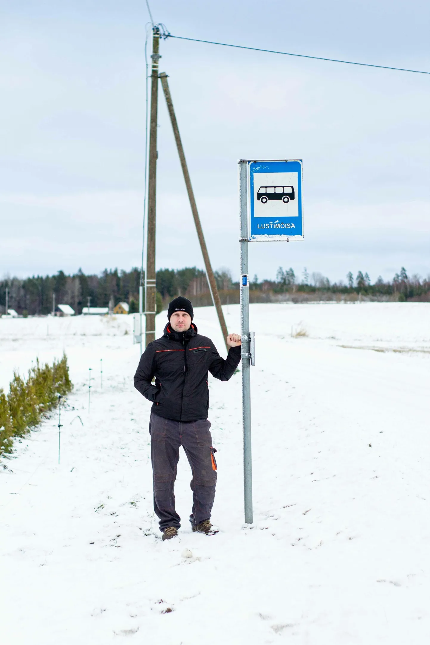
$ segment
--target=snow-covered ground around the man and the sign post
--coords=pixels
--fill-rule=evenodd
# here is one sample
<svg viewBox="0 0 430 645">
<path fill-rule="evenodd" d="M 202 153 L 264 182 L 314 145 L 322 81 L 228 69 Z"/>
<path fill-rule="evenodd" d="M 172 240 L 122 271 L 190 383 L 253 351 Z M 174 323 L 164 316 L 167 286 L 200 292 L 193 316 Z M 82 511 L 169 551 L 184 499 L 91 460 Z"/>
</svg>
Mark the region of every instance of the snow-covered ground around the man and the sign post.
<svg viewBox="0 0 430 645">
<path fill-rule="evenodd" d="M 195 322 L 224 349 L 212 308 Z M 162 542 L 132 317 L 0 319 L 0 386 L 63 350 L 75 384 L 61 464 L 55 415 L 1 460 L 2 643 L 430 642 L 430 304 L 254 304 L 251 329 L 255 524 L 237 373 L 210 378 L 220 533 L 190 531 L 182 453 Z"/>
</svg>

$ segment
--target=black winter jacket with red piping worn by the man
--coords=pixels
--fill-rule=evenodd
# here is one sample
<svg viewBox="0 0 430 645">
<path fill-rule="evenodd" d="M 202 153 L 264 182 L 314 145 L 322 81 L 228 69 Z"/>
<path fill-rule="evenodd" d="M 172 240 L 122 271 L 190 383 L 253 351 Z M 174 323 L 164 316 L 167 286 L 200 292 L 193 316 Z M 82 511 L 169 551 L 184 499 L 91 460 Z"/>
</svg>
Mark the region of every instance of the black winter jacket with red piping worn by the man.
<svg viewBox="0 0 430 645">
<path fill-rule="evenodd" d="M 175 332 L 166 324 L 162 338 L 150 342 L 142 353 L 134 386 L 153 402 L 151 412 L 173 421 L 207 419 L 209 409 L 208 371 L 228 381 L 240 362 L 240 346 L 231 347 L 222 359 L 213 342 L 200 336 L 191 323 L 186 332 Z M 155 376 L 155 385 L 151 384 Z"/>
</svg>

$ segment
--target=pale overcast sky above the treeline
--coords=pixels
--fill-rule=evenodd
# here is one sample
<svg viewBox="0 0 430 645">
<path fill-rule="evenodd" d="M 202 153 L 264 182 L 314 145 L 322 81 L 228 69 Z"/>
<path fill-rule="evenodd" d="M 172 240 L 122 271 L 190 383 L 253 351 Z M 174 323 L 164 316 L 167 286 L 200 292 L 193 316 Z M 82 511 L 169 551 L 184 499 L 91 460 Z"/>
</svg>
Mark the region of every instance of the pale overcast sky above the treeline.
<svg viewBox="0 0 430 645">
<path fill-rule="evenodd" d="M 150 5 L 175 35 L 430 71 L 424 1 Z M 144 0 L 0 7 L 0 275 L 140 266 Z M 289 158 L 305 241 L 251 244 L 252 275 L 430 273 L 430 75 L 175 39 L 161 54 L 214 268 L 239 272 L 237 159 Z M 162 94 L 158 134 L 157 268 L 202 267 Z"/>
</svg>

